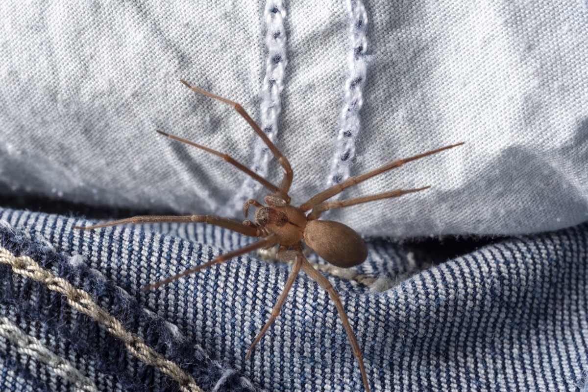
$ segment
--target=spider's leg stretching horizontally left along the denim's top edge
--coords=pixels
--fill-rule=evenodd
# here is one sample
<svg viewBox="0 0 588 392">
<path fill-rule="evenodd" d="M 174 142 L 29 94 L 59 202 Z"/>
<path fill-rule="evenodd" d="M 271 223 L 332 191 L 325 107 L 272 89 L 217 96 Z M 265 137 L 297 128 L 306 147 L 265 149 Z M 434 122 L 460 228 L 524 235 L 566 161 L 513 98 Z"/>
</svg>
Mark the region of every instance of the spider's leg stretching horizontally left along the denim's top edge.
<svg viewBox="0 0 588 392">
<path fill-rule="evenodd" d="M 123 225 L 126 223 L 174 223 L 174 222 L 188 222 L 188 223 L 208 223 L 210 225 L 224 227 L 226 229 L 236 231 L 243 235 L 248 235 L 250 237 L 259 237 L 265 234 L 262 228 L 259 227 L 251 227 L 249 225 L 245 225 L 242 222 L 234 221 L 233 219 L 217 217 L 216 215 L 183 215 L 183 216 L 176 216 L 176 215 L 137 215 L 136 217 L 126 218 L 126 219 L 119 219 L 118 221 L 113 222 L 106 222 L 101 223 L 98 225 L 92 226 L 74 226 L 74 229 L 79 230 L 91 230 L 91 229 L 99 229 L 102 227 L 110 227 L 116 225 Z"/>
</svg>

